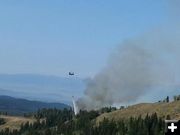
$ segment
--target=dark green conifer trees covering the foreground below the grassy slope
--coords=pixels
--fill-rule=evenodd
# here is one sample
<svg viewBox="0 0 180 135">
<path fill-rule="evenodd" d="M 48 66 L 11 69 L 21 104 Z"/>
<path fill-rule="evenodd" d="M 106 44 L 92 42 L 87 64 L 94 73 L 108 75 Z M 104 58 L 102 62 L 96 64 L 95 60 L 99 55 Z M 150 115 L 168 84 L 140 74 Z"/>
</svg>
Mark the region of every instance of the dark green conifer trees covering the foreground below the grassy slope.
<svg viewBox="0 0 180 135">
<path fill-rule="evenodd" d="M 34 114 L 36 122 L 25 123 L 20 130 L 4 129 L 0 135 L 163 135 L 164 120 L 156 114 L 118 121 L 103 119 L 98 125 L 97 111 L 81 111 L 73 116 L 70 109 L 43 109 Z M 139 130 L 141 129 L 141 130 Z"/>
</svg>

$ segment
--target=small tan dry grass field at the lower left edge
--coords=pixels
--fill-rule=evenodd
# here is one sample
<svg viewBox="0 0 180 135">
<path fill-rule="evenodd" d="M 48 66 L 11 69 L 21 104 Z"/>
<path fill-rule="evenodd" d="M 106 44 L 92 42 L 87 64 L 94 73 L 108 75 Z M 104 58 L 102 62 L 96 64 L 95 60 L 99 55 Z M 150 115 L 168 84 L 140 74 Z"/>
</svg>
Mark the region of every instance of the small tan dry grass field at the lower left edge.
<svg viewBox="0 0 180 135">
<path fill-rule="evenodd" d="M 0 126 L 0 130 L 3 130 L 5 128 L 9 128 L 10 130 L 13 130 L 13 129 L 19 130 L 21 124 L 26 123 L 26 122 L 29 122 L 29 123 L 35 122 L 35 119 L 33 118 L 25 118 L 25 117 L 17 117 L 17 116 L 0 115 L 0 118 L 4 118 L 6 121 L 4 125 Z"/>
</svg>

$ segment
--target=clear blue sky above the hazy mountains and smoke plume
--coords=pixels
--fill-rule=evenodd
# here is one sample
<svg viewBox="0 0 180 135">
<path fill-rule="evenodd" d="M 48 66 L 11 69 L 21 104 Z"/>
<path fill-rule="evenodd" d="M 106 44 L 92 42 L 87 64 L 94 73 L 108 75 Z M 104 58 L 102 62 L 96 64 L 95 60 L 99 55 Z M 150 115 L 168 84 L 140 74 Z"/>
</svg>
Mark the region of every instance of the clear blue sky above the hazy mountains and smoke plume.
<svg viewBox="0 0 180 135">
<path fill-rule="evenodd" d="M 1 0 L 0 73 L 92 77 L 124 40 L 167 20 L 166 0 Z"/>
</svg>

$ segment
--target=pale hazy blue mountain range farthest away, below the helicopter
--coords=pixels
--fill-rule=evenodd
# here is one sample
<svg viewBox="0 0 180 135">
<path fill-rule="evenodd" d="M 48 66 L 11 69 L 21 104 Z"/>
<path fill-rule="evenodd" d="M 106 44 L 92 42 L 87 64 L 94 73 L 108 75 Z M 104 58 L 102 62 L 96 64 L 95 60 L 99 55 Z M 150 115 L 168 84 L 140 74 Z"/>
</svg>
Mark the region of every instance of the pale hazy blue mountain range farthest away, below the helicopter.
<svg viewBox="0 0 180 135">
<path fill-rule="evenodd" d="M 84 89 L 84 80 L 76 76 L 0 74 L 0 94 L 16 98 L 70 104 L 71 97 L 82 96 Z"/>
</svg>

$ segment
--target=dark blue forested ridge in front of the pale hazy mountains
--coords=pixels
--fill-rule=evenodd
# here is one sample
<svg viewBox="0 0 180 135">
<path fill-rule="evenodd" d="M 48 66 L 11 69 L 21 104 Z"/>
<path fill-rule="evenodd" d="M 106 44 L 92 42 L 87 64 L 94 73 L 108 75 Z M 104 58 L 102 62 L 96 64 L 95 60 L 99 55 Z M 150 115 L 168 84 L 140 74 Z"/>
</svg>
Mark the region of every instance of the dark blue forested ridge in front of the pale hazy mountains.
<svg viewBox="0 0 180 135">
<path fill-rule="evenodd" d="M 70 108 L 70 106 L 63 103 L 30 101 L 26 99 L 0 95 L 0 112 L 7 112 L 11 115 L 23 115 L 24 113 L 36 112 L 38 109 L 42 108 L 64 109 Z"/>
</svg>

